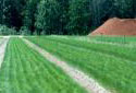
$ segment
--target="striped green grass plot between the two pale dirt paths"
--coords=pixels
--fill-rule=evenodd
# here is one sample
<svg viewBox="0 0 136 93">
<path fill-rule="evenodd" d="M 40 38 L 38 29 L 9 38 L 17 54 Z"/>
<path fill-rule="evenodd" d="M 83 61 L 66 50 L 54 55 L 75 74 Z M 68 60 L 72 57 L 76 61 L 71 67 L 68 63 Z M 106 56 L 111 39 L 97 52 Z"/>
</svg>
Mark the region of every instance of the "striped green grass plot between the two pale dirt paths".
<svg viewBox="0 0 136 93">
<path fill-rule="evenodd" d="M 0 70 L 0 93 L 86 93 L 20 38 L 11 38 Z"/>
</svg>

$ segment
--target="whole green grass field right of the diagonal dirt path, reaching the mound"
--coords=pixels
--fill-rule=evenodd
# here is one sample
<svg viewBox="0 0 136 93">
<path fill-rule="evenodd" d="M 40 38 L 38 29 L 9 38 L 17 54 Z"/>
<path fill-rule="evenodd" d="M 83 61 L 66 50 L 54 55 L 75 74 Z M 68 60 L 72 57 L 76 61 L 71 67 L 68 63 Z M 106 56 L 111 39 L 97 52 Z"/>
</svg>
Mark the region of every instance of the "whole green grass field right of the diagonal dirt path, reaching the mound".
<svg viewBox="0 0 136 93">
<path fill-rule="evenodd" d="M 136 93 L 135 37 L 26 37 L 115 93 Z"/>
</svg>

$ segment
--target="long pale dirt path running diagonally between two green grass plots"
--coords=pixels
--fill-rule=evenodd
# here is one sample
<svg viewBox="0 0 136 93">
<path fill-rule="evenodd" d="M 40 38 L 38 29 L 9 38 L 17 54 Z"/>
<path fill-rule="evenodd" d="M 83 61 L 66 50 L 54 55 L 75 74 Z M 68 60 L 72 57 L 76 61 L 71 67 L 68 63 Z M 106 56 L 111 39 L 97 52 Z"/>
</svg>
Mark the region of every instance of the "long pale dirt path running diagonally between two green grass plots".
<svg viewBox="0 0 136 93">
<path fill-rule="evenodd" d="M 63 69 L 72 79 L 74 79 L 78 84 L 85 88 L 88 93 L 111 93 L 110 91 L 102 88 L 98 82 L 94 79 L 89 78 L 86 73 L 69 66 L 65 61 L 61 61 L 59 58 L 52 56 L 45 49 L 38 47 L 37 45 L 30 43 L 29 40 L 22 38 L 29 47 L 37 50 L 40 55 L 42 55 L 49 61 L 55 63 L 60 68 Z"/>
</svg>

